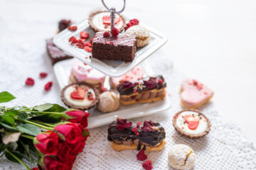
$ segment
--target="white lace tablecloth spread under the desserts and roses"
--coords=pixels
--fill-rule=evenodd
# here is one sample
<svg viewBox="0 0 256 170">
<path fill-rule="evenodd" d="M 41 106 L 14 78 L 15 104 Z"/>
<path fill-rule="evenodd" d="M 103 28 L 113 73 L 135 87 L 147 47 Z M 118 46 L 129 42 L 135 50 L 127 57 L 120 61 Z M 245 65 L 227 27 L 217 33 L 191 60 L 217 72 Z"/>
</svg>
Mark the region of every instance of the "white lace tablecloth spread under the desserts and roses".
<svg viewBox="0 0 256 170">
<path fill-rule="evenodd" d="M 0 91 L 9 91 L 16 96 L 6 106 L 35 106 L 41 103 L 58 103 L 60 89 L 53 74 L 53 67 L 46 53 L 46 38 L 54 35 L 57 21 L 6 21 L 0 18 Z M 164 113 L 136 118 L 132 121 L 155 120 L 166 129 L 166 147 L 161 152 L 146 152 L 154 169 L 172 169 L 167 162 L 169 148 L 175 144 L 186 144 L 196 153 L 193 169 L 256 169 L 256 149 L 238 125 L 218 115 L 214 104 L 200 108 L 209 118 L 210 133 L 198 140 L 181 137 L 174 130 L 172 116 L 180 111 L 179 87 L 186 79 L 172 68 L 169 56 L 159 50 L 146 60 L 156 74 L 163 74 L 167 81 L 171 109 Z M 48 72 L 40 79 L 40 72 Z M 27 77 L 35 79 L 34 86 L 25 86 Z M 44 91 L 44 85 L 53 81 L 53 88 Z M 107 141 L 107 126 L 90 130 L 85 149 L 78 155 L 73 169 L 142 169 L 137 160 L 137 151 L 114 151 Z M 31 167 L 32 165 L 29 164 Z M 24 169 L 22 165 L 0 160 L 0 169 Z"/>
</svg>

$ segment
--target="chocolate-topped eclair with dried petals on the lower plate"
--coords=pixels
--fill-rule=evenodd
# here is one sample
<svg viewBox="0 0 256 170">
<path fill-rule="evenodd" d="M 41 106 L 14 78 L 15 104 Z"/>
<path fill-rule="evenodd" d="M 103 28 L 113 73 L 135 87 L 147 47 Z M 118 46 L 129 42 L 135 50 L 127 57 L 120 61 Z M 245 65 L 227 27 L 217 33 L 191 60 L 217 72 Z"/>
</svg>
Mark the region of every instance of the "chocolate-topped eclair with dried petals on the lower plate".
<svg viewBox="0 0 256 170">
<path fill-rule="evenodd" d="M 120 81 L 117 85 L 120 102 L 123 105 L 150 103 L 166 96 L 164 77 L 146 77 L 137 81 Z"/>
</svg>

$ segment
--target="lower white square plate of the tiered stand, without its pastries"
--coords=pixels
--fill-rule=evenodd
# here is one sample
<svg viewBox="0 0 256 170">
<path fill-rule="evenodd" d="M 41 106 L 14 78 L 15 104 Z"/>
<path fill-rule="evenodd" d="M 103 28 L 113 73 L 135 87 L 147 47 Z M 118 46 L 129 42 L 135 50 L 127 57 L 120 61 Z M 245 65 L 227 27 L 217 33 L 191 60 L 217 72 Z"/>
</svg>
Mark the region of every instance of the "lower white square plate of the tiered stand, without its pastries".
<svg viewBox="0 0 256 170">
<path fill-rule="evenodd" d="M 74 62 L 75 59 L 69 59 L 54 64 L 53 70 L 58 80 L 60 89 L 63 89 L 64 86 L 68 85 L 71 67 Z M 142 63 L 141 66 L 147 75 L 154 75 L 154 72 L 146 64 Z M 138 118 L 144 115 L 160 113 L 168 110 L 169 108 L 171 108 L 171 103 L 168 95 L 166 95 L 164 100 L 156 101 L 154 103 L 137 103 L 130 106 L 122 106 L 122 104 L 120 104 L 119 109 L 112 113 L 102 113 L 98 111 L 97 108 L 92 108 L 89 111 L 90 116 L 88 119 L 88 128 L 96 128 L 102 125 L 110 124 L 118 117 L 124 119 Z"/>
</svg>

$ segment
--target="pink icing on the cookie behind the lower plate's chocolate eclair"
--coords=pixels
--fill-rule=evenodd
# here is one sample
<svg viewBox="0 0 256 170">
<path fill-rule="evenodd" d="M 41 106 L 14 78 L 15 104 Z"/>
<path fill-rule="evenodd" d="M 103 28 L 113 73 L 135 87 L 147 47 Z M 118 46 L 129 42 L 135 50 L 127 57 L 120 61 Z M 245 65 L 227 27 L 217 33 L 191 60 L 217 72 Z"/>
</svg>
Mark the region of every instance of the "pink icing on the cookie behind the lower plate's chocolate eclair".
<svg viewBox="0 0 256 170">
<path fill-rule="evenodd" d="M 124 74 L 122 77 L 112 78 L 112 82 L 114 86 L 117 86 L 119 84 L 120 80 L 124 81 L 136 81 L 138 79 L 142 79 L 144 74 L 144 70 L 142 67 L 134 67 L 131 71 L 127 72 L 127 74 Z"/>
</svg>

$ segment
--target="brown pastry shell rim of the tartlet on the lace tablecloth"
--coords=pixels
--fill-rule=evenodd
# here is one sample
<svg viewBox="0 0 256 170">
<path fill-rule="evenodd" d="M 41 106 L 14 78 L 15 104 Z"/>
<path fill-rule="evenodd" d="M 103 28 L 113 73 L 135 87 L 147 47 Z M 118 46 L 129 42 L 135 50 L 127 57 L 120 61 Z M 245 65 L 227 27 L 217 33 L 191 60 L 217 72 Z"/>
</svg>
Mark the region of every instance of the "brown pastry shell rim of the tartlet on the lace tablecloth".
<svg viewBox="0 0 256 170">
<path fill-rule="evenodd" d="M 178 126 L 176 125 L 176 119 L 178 118 L 178 115 L 183 113 L 184 111 L 193 111 L 193 112 L 196 112 L 196 113 L 200 113 L 204 118 L 206 118 L 206 115 L 204 115 L 203 113 L 201 113 L 200 111 L 196 110 L 196 109 L 184 109 L 182 111 L 179 111 L 178 113 L 176 113 L 174 115 L 174 119 L 173 119 L 173 125 L 174 125 L 174 128 L 175 130 L 181 135 L 181 136 L 184 136 L 184 137 L 188 137 L 190 139 L 198 139 L 198 138 L 201 138 L 201 137 L 204 137 L 205 135 L 207 135 L 209 132 L 210 132 L 210 121 L 208 120 L 208 118 L 206 118 L 206 121 L 207 121 L 207 129 L 205 132 L 202 132 L 201 134 L 198 134 L 198 135 L 192 135 L 192 134 L 189 134 L 187 132 L 184 132 L 181 128 L 178 128 Z"/>
</svg>

